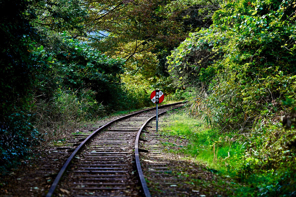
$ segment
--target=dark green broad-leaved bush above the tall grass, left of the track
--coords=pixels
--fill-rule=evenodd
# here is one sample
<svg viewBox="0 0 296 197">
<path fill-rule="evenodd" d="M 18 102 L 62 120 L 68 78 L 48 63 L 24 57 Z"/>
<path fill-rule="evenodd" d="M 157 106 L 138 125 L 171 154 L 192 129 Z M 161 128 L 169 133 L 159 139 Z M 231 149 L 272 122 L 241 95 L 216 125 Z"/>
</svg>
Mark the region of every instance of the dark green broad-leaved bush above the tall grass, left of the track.
<svg viewBox="0 0 296 197">
<path fill-rule="evenodd" d="M 52 75 L 50 82 L 47 76 L 43 80 L 66 89 L 91 89 L 96 92 L 97 101 L 112 104 L 118 97 L 123 60 L 109 58 L 86 43 L 72 39 L 65 32 L 60 36 L 64 46 L 58 51 L 47 51 L 48 48 L 44 48 L 44 52 L 41 50 Z M 41 48 L 37 48 L 37 51 Z"/>
</svg>

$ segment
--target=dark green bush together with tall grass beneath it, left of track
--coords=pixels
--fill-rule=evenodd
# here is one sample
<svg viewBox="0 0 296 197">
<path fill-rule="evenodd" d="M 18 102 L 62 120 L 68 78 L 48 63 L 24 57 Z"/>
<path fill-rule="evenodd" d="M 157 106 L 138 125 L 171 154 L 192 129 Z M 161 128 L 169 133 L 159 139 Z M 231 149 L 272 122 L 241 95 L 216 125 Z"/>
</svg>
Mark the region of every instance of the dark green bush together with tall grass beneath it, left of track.
<svg viewBox="0 0 296 197">
<path fill-rule="evenodd" d="M 47 66 L 36 76 L 30 112 L 35 114 L 38 128 L 50 134 L 94 119 L 104 113 L 103 105 L 112 107 L 122 99 L 117 87 L 123 60 L 108 58 L 66 32 L 60 33 L 55 43 L 59 46 L 54 50 L 51 45 L 30 45 L 36 59 Z"/>
</svg>

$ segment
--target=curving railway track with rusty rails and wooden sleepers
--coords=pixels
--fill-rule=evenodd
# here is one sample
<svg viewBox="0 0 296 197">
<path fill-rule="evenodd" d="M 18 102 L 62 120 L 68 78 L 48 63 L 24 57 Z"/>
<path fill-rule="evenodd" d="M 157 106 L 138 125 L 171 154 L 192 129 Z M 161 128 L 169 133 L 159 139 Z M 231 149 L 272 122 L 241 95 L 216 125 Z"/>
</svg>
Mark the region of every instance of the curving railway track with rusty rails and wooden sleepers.
<svg viewBox="0 0 296 197">
<path fill-rule="evenodd" d="M 182 107 L 181 102 L 159 107 L 158 114 Z M 94 126 L 73 140 L 78 147 L 67 159 L 46 197 L 146 196 L 139 141 L 144 126 L 156 116 L 151 108 Z M 67 148 L 67 147 L 65 147 Z M 58 189 L 57 189 L 58 188 Z"/>
</svg>

